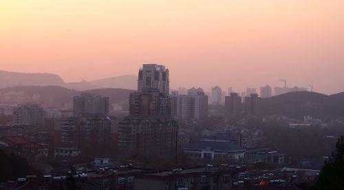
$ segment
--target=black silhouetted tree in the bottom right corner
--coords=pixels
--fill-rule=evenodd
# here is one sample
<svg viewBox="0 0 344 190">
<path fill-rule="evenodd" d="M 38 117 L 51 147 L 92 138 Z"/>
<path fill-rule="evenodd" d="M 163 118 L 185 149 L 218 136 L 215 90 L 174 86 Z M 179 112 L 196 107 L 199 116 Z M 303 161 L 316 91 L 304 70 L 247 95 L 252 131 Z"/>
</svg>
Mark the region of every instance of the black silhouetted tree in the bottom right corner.
<svg viewBox="0 0 344 190">
<path fill-rule="evenodd" d="M 336 142 L 336 151 L 325 162 L 314 189 L 344 189 L 344 137 Z"/>
</svg>

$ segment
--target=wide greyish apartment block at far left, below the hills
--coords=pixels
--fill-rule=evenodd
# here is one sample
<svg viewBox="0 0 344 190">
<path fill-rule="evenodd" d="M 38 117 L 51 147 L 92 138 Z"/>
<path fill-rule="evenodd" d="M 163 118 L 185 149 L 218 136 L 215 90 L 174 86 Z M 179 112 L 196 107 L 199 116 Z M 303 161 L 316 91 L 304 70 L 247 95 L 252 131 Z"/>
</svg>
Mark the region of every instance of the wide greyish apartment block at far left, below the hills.
<svg viewBox="0 0 344 190">
<path fill-rule="evenodd" d="M 13 110 L 12 121 L 19 125 L 42 127 L 44 123 L 44 115 L 44 110 L 39 105 L 19 105 L 19 107 Z"/>
</svg>

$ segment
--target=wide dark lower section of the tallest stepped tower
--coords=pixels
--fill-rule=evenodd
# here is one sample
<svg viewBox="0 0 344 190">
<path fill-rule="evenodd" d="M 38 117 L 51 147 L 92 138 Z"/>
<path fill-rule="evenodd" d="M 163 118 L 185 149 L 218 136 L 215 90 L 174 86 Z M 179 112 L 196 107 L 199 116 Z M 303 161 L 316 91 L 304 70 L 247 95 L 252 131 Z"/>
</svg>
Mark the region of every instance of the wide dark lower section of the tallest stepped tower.
<svg viewBox="0 0 344 190">
<path fill-rule="evenodd" d="M 118 125 L 118 146 L 125 154 L 172 154 L 177 129 L 171 116 L 127 116 Z"/>
</svg>

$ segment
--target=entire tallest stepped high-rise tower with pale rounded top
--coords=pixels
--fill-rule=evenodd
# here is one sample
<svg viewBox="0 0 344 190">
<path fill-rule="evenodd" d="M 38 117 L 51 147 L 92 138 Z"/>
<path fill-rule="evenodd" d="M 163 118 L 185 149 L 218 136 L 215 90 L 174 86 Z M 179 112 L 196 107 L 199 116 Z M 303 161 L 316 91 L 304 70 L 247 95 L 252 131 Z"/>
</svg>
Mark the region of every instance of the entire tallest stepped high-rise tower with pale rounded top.
<svg viewBox="0 0 344 190">
<path fill-rule="evenodd" d="M 118 146 L 127 154 L 166 155 L 175 148 L 177 122 L 171 116 L 169 70 L 144 64 L 138 92 L 130 94 L 129 116 L 118 125 Z"/>
</svg>

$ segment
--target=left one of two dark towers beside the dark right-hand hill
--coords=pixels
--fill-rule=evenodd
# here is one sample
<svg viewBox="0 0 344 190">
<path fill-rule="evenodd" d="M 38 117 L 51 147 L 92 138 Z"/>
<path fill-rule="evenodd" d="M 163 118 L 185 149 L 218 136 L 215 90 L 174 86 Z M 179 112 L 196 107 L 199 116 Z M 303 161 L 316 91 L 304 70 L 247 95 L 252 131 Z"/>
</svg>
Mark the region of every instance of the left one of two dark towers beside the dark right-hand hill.
<svg viewBox="0 0 344 190">
<path fill-rule="evenodd" d="M 241 97 L 237 93 L 230 93 L 225 100 L 225 114 L 227 118 L 241 116 Z"/>
</svg>

